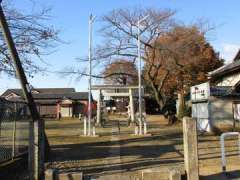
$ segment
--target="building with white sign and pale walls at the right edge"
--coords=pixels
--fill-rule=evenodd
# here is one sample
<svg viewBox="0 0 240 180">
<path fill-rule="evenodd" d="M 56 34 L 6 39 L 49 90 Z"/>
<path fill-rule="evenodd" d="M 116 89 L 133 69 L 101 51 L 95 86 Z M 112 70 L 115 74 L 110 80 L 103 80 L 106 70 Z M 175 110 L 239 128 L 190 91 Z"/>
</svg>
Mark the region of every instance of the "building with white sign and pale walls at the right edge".
<svg viewBox="0 0 240 180">
<path fill-rule="evenodd" d="M 208 82 L 191 87 L 192 117 L 206 131 L 234 128 L 240 122 L 240 51 L 208 76 Z"/>
</svg>

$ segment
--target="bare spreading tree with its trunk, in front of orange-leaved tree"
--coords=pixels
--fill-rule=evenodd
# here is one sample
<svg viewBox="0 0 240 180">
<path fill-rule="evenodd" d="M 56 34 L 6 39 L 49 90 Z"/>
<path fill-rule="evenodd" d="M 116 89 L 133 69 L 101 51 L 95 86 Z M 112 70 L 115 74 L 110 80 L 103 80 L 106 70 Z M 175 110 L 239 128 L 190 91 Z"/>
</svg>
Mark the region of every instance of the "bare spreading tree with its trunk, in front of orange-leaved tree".
<svg viewBox="0 0 240 180">
<path fill-rule="evenodd" d="M 127 58 L 133 63 L 137 59 L 137 22 L 148 15 L 148 18 L 141 23 L 141 53 L 144 54 L 143 59 L 149 62 L 149 58 L 154 59 L 153 53 L 148 55 L 149 51 L 157 53 L 166 51 L 166 47 L 156 46 L 156 39 L 167 33 L 175 26 L 173 19 L 175 11 L 171 10 L 155 10 L 155 9 L 117 9 L 103 16 L 103 27 L 100 29 L 101 35 L 105 42 L 96 48 L 96 60 L 98 62 L 111 64 L 115 59 Z M 159 54 L 159 53 L 158 53 Z M 152 66 L 158 66 L 152 63 Z M 146 70 L 146 69 L 145 69 Z M 148 73 L 147 73 L 148 74 Z M 150 74 L 153 75 L 154 74 Z M 156 77 L 155 74 L 154 77 Z M 162 84 L 168 74 L 161 78 Z M 148 78 L 148 81 L 151 78 Z M 152 81 L 154 82 L 154 81 Z M 152 83 L 151 89 L 159 106 L 164 106 L 164 96 L 161 96 L 161 83 L 157 85 Z"/>
</svg>

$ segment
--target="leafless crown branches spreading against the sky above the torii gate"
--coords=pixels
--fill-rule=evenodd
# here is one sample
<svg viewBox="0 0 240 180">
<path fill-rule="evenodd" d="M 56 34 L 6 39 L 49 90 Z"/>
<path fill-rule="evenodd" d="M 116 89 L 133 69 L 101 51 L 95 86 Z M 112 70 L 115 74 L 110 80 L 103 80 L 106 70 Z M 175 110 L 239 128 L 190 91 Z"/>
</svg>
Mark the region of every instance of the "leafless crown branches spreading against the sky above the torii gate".
<svg viewBox="0 0 240 180">
<path fill-rule="evenodd" d="M 172 17 L 175 12 L 171 10 L 155 9 L 116 9 L 102 16 L 99 30 L 103 41 L 95 47 L 93 61 L 95 66 L 107 66 L 119 59 L 128 59 L 135 63 L 137 58 L 137 21 L 149 15 L 141 24 L 141 50 L 145 53 L 147 47 L 152 47 L 152 41 L 162 33 L 167 32 L 174 25 Z M 143 57 L 144 58 L 144 57 Z M 78 58 L 80 63 L 85 63 L 87 58 Z M 86 76 L 86 68 L 77 69 L 67 67 L 61 73 Z M 96 73 L 93 77 L 104 78 Z"/>
</svg>

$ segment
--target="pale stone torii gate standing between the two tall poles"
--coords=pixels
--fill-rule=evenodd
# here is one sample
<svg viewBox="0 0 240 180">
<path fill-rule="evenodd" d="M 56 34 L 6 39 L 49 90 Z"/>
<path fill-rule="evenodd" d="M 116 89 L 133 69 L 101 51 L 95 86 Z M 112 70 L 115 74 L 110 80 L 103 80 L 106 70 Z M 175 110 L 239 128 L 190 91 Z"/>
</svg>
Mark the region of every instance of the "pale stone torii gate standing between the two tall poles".
<svg viewBox="0 0 240 180">
<path fill-rule="evenodd" d="M 98 91 L 97 100 L 97 124 L 101 122 L 101 101 L 102 97 L 129 97 L 130 106 L 130 118 L 131 122 L 134 122 L 134 101 L 133 101 L 133 90 L 138 89 L 138 86 L 123 86 L 123 85 L 93 85 L 92 90 Z M 121 92 L 122 90 L 122 92 Z M 106 91 L 106 92 L 103 92 Z M 109 92 L 107 92 L 109 91 Z M 114 92 L 113 92 L 114 91 Z M 144 91 L 142 90 L 144 93 Z"/>
</svg>

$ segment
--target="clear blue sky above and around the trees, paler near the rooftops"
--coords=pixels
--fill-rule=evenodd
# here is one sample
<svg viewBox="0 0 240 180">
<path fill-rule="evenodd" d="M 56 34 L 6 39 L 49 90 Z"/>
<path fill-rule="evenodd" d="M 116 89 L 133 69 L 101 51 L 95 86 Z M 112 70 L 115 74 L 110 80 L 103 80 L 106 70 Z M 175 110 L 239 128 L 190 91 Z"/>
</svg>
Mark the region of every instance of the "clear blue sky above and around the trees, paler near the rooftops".
<svg viewBox="0 0 240 180">
<path fill-rule="evenodd" d="M 30 0 L 13 0 L 14 6 L 28 11 Z M 67 44 L 60 44 L 57 51 L 44 56 L 51 71 L 62 70 L 66 66 L 79 66 L 76 57 L 87 55 L 88 16 L 93 13 L 101 16 L 115 8 L 154 7 L 177 11 L 176 19 L 184 23 L 193 23 L 197 19 L 205 19 L 216 29 L 208 35 L 213 47 L 221 56 L 230 61 L 240 47 L 240 15 L 239 0 L 35 0 L 40 6 L 52 7 L 52 18 L 48 22 L 60 29 L 60 38 Z M 100 23 L 94 24 L 97 30 Z M 93 36 L 94 44 L 100 42 L 98 33 Z M 42 66 L 46 66 L 42 64 Z M 75 81 L 71 77 L 59 77 L 56 74 L 37 74 L 29 79 L 34 87 L 75 87 L 78 91 L 86 91 L 86 79 Z M 0 74 L 0 93 L 7 88 L 17 88 L 17 80 Z"/>
</svg>

